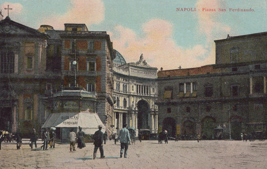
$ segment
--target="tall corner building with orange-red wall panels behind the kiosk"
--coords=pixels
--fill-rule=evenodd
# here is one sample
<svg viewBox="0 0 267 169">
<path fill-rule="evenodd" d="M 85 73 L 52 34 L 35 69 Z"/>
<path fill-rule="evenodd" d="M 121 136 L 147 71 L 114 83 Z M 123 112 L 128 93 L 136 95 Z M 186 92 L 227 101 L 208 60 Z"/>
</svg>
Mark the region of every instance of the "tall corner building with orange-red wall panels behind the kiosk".
<svg viewBox="0 0 267 169">
<path fill-rule="evenodd" d="M 82 87 L 97 96 L 96 108 L 108 131 L 113 124 L 113 45 L 106 32 L 88 31 L 85 24 L 65 24 L 64 31 L 42 25 L 40 32 L 50 36 L 47 47 L 47 72 L 51 82 L 46 84 L 50 93 L 63 87 Z M 53 78 L 58 78 L 60 81 Z M 44 104 L 45 112 L 51 111 Z M 88 107 L 90 109 L 90 107 Z M 47 116 L 44 117 L 45 122 Z"/>
</svg>

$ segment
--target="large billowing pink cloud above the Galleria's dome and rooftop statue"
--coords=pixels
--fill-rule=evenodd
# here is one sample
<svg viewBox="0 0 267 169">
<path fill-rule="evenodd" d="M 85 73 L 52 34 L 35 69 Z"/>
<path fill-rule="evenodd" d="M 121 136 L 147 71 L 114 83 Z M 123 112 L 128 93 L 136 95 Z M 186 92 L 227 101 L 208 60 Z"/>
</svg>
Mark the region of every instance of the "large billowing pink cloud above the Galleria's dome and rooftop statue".
<svg viewBox="0 0 267 169">
<path fill-rule="evenodd" d="M 153 19 L 142 26 L 142 36 L 123 26 L 116 26 L 110 36 L 114 49 L 128 63 L 138 61 L 141 53 L 150 66 L 163 67 L 164 70 L 177 69 L 180 65 L 182 68 L 198 67 L 207 63 L 207 49 L 202 45 L 183 49 L 175 43 L 172 33 L 173 25 L 169 21 Z"/>
</svg>

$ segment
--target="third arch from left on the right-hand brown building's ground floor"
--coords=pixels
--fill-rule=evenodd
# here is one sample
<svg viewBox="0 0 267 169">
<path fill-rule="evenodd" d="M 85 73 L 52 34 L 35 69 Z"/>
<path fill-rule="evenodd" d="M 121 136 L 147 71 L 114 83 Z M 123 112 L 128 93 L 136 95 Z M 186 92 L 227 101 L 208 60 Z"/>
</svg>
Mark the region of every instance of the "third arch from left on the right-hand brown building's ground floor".
<svg viewBox="0 0 267 169">
<path fill-rule="evenodd" d="M 214 128 L 216 128 L 216 120 L 213 117 L 204 117 L 201 120 L 201 137 L 202 139 L 214 139 Z"/>
</svg>

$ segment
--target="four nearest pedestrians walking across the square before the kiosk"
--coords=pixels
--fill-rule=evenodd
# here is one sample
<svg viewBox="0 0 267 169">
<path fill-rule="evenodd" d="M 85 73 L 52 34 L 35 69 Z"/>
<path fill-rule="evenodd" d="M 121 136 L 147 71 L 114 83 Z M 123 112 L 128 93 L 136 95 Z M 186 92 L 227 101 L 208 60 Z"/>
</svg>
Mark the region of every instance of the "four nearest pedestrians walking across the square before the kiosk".
<svg viewBox="0 0 267 169">
<path fill-rule="evenodd" d="M 100 158 L 105 158 L 104 155 L 104 149 L 103 149 L 103 141 L 104 144 L 106 143 L 107 139 L 107 132 L 103 133 L 102 130 L 102 125 L 98 126 L 98 130 L 94 133 L 93 139 L 94 139 L 94 152 L 93 152 L 93 159 L 96 159 L 97 155 L 97 150 L 99 149 L 100 151 Z M 70 140 L 70 150 L 72 149 L 75 151 L 75 141 L 76 137 L 78 138 L 78 147 L 84 144 L 83 137 L 79 138 L 81 135 L 84 135 L 84 132 L 82 131 L 82 128 L 79 127 L 79 132 L 76 133 L 74 132 L 73 129 L 71 129 L 71 132 L 69 133 L 69 140 Z M 81 140 L 82 139 L 82 140 Z M 82 141 L 79 143 L 79 140 Z M 127 124 L 123 124 L 123 128 L 120 130 L 120 133 L 118 135 L 117 140 L 120 140 L 121 143 L 121 149 L 120 149 L 120 157 L 124 154 L 124 158 L 127 158 L 127 151 L 128 151 L 128 145 L 131 141 L 130 138 L 130 133 L 129 130 L 127 129 Z M 85 145 L 84 145 L 85 146 Z"/>
</svg>

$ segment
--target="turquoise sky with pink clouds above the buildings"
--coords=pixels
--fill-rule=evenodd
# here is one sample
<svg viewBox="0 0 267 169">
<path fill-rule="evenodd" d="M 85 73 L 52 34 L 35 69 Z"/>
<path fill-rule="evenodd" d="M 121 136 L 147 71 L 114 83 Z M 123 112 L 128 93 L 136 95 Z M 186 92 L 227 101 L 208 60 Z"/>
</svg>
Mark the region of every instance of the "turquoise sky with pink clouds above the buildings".
<svg viewBox="0 0 267 169">
<path fill-rule="evenodd" d="M 4 19 L 8 5 L 11 20 L 34 29 L 106 31 L 127 63 L 143 54 L 163 70 L 215 64 L 214 40 L 267 31 L 267 0 L 1 0 Z"/>
</svg>

